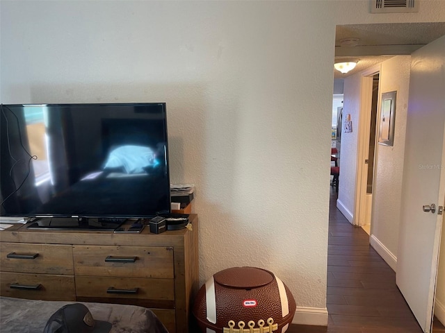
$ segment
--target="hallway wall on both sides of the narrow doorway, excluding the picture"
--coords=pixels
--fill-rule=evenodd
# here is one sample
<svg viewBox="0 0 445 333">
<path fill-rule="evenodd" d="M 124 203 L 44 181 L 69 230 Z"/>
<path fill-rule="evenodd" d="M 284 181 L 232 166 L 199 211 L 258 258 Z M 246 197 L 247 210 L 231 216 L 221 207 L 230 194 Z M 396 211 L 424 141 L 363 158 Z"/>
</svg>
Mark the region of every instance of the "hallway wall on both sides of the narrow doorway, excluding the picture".
<svg viewBox="0 0 445 333">
<path fill-rule="evenodd" d="M 359 73 L 345 79 L 343 114 L 350 114 L 353 121 L 353 133 L 342 134 L 342 172 L 337 200 L 339 210 L 350 223 L 357 225 L 362 224 L 361 221 L 354 221 L 361 78 L 362 74 Z M 410 56 L 396 56 L 380 64 L 380 96 L 383 92 L 397 91 L 396 127 L 394 146 L 376 144 L 373 207 L 371 209 L 371 245 L 394 270 L 397 262 L 409 85 Z M 380 114 L 380 96 L 378 114 Z M 378 116 L 379 118 L 380 116 Z M 378 139 L 378 133 L 376 139 Z"/>
</svg>

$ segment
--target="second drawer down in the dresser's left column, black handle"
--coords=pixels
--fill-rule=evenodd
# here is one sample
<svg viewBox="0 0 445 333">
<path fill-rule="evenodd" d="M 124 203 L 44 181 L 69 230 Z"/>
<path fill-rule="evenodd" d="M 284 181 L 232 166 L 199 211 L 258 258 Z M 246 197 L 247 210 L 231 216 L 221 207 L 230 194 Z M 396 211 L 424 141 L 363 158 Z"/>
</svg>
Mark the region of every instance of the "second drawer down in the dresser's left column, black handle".
<svg viewBox="0 0 445 333">
<path fill-rule="evenodd" d="M 0 295 L 31 300 L 75 300 L 74 276 L 1 272 Z"/>
</svg>

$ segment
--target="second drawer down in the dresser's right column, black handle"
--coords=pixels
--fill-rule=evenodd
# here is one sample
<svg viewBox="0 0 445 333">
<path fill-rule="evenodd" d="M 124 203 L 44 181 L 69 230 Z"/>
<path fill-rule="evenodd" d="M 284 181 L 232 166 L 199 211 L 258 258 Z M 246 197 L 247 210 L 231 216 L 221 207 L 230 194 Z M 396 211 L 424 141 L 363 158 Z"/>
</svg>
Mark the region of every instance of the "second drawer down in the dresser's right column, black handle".
<svg viewBox="0 0 445 333">
<path fill-rule="evenodd" d="M 147 307 L 173 308 L 175 285 L 172 279 L 102 278 L 76 276 L 76 295 L 82 300 L 94 299 L 144 300 Z"/>
</svg>

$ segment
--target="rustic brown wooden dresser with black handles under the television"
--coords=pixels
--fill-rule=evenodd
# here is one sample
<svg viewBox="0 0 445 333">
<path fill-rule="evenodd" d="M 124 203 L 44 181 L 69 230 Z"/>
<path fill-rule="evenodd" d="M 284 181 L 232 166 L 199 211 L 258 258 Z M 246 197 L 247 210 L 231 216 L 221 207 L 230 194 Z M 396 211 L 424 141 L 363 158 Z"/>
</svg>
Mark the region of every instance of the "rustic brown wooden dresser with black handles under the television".
<svg viewBox="0 0 445 333">
<path fill-rule="evenodd" d="M 161 234 L 13 225 L 0 232 L 0 295 L 140 305 L 170 333 L 188 332 L 200 287 L 197 215 L 190 221 L 192 230 Z"/>
</svg>

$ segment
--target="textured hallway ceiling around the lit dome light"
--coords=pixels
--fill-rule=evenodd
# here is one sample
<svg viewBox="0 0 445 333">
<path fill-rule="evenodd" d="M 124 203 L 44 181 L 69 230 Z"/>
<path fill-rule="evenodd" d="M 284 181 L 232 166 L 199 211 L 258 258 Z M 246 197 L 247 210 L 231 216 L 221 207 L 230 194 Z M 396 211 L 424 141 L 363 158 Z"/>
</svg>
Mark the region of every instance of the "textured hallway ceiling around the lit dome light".
<svg viewBox="0 0 445 333">
<path fill-rule="evenodd" d="M 411 54 L 443 35 L 445 22 L 337 26 L 335 60 L 355 58 L 359 59 L 359 62 L 348 74 L 334 70 L 334 78 L 346 78 L 393 56 Z M 341 40 L 350 38 L 358 38 L 357 45 L 342 46 Z"/>
</svg>

